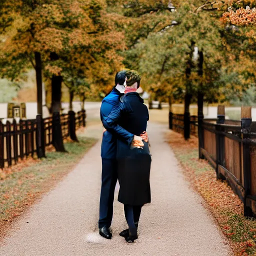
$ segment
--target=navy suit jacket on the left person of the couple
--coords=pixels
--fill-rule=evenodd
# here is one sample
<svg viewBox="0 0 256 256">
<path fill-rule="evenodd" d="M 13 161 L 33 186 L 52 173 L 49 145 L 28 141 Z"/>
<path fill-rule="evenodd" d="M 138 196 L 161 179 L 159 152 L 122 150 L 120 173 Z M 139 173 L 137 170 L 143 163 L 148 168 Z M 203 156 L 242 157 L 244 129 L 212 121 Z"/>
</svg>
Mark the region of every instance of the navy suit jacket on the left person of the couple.
<svg viewBox="0 0 256 256">
<path fill-rule="evenodd" d="M 117 152 L 117 138 L 122 139 L 127 144 L 130 144 L 133 140 L 134 134 L 128 132 L 120 125 L 109 125 L 106 121 L 107 116 L 110 114 L 114 106 L 118 106 L 119 98 L 123 94 L 120 93 L 116 88 L 103 98 L 100 107 L 100 119 L 106 131 L 102 136 L 101 143 L 101 157 L 107 159 L 115 159 Z"/>
</svg>

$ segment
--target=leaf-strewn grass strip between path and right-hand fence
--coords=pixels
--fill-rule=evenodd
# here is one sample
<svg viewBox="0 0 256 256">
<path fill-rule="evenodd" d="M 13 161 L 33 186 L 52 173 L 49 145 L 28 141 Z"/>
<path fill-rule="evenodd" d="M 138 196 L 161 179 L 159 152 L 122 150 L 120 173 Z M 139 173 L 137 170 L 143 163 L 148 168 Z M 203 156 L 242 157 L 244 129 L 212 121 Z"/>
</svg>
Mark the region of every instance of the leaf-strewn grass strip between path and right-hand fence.
<svg viewBox="0 0 256 256">
<path fill-rule="evenodd" d="M 256 220 L 243 216 L 243 203 L 226 181 L 217 180 L 215 170 L 206 160 L 198 159 L 198 139 L 185 141 L 170 131 L 166 139 L 171 145 L 185 177 L 204 198 L 205 206 L 229 240 L 235 255 L 256 255 Z"/>
</svg>

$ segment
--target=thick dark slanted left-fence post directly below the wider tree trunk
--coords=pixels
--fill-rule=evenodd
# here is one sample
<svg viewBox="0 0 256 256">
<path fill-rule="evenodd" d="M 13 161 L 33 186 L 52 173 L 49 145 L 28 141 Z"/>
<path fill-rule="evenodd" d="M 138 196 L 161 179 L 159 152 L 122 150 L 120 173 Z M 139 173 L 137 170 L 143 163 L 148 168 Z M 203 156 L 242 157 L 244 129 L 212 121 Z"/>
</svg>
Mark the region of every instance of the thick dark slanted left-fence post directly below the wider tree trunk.
<svg viewBox="0 0 256 256">
<path fill-rule="evenodd" d="M 66 152 L 63 144 L 59 111 L 52 115 L 52 144 L 58 152 Z"/>
</svg>

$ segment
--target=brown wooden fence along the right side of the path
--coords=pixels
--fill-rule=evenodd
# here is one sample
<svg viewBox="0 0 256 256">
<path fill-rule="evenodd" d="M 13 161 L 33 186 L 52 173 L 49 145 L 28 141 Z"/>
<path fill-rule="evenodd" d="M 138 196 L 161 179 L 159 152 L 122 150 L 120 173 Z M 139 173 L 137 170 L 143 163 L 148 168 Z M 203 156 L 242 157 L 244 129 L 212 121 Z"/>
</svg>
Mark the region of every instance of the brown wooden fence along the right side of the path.
<svg viewBox="0 0 256 256">
<path fill-rule="evenodd" d="M 176 132 L 198 137 L 199 158 L 206 158 L 218 179 L 225 179 L 242 200 L 245 216 L 256 216 L 256 122 L 251 107 L 242 107 L 241 120 L 225 120 L 169 113 Z"/>
</svg>

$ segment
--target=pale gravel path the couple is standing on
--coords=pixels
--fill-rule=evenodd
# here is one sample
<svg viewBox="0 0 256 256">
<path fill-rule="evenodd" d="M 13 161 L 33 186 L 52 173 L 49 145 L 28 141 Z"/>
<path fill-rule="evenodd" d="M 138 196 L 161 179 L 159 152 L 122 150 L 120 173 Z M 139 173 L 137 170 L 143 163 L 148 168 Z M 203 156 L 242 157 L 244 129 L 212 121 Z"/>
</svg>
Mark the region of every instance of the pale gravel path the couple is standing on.
<svg viewBox="0 0 256 256">
<path fill-rule="evenodd" d="M 101 128 L 89 127 L 97 136 Z M 1 256 L 224 256 L 226 240 L 200 197 L 188 186 L 169 145 L 166 128 L 149 124 L 152 203 L 142 208 L 139 238 L 127 244 L 122 204 L 115 200 L 112 240 L 97 233 L 100 141 L 75 169 L 17 221 L 0 247 Z M 116 187 L 117 195 L 118 186 Z"/>
</svg>

